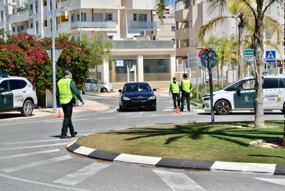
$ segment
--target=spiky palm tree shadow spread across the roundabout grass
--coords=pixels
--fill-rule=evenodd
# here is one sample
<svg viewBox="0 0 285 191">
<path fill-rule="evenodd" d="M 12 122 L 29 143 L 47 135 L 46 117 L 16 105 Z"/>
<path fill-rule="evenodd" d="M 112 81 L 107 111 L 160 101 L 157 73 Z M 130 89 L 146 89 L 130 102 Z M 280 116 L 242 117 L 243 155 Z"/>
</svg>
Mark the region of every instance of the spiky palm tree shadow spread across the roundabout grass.
<svg viewBox="0 0 285 191">
<path fill-rule="evenodd" d="M 246 124 L 247 122 L 232 122 L 232 125 L 241 125 Z M 218 123 L 229 124 L 227 122 Z M 247 142 L 243 142 L 237 140 L 236 138 L 245 138 L 248 140 L 257 140 L 257 139 L 271 139 L 276 138 L 282 133 L 273 132 L 273 131 L 264 131 L 264 129 L 260 128 L 252 128 L 252 129 L 240 129 L 227 127 L 223 129 L 213 129 L 217 128 L 217 124 L 215 125 L 205 125 L 205 124 L 188 124 L 188 125 L 175 125 L 175 128 L 133 128 L 132 130 L 124 130 L 124 131 L 112 131 L 105 132 L 103 134 L 125 134 L 125 135 L 133 135 L 134 137 L 127 138 L 125 140 L 137 140 L 141 138 L 148 137 L 158 137 L 158 136 L 169 136 L 164 144 L 171 144 L 172 142 L 177 141 L 182 137 L 188 137 L 194 140 L 203 139 L 203 136 L 210 136 L 212 138 L 225 140 L 227 142 L 233 142 L 235 144 L 239 144 L 241 146 L 250 146 Z"/>
</svg>

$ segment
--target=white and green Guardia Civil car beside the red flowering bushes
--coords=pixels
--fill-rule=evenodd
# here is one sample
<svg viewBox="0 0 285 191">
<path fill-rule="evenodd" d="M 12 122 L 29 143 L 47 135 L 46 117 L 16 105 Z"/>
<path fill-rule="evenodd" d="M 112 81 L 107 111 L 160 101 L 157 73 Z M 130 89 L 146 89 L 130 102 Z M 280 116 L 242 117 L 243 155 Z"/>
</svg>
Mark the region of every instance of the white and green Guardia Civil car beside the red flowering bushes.
<svg viewBox="0 0 285 191">
<path fill-rule="evenodd" d="M 37 104 L 36 87 L 26 78 L 0 73 L 0 112 L 21 111 L 31 116 Z"/>
</svg>

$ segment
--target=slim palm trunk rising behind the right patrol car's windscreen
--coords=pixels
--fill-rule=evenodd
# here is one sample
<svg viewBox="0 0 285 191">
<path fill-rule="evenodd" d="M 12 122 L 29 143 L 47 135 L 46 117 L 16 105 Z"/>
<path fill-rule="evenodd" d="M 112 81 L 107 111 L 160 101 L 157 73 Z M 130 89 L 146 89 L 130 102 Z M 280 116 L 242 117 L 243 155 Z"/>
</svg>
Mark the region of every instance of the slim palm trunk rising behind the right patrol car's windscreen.
<svg viewBox="0 0 285 191">
<path fill-rule="evenodd" d="M 239 25 L 239 79 L 243 78 L 245 71 L 245 63 L 243 62 L 243 47 L 245 45 L 245 28 L 243 20 L 241 19 Z"/>
</svg>

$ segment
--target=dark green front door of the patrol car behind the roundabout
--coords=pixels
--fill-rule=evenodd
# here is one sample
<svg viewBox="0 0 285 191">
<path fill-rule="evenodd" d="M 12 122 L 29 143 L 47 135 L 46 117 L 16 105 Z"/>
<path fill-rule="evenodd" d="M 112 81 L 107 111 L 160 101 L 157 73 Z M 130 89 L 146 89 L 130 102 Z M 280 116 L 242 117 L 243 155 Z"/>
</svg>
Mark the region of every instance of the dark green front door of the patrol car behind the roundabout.
<svg viewBox="0 0 285 191">
<path fill-rule="evenodd" d="M 235 108 L 237 109 L 252 109 L 254 108 L 255 99 L 255 80 L 249 79 L 245 81 L 240 87 L 241 90 L 237 90 L 233 94 L 233 100 Z"/>
</svg>

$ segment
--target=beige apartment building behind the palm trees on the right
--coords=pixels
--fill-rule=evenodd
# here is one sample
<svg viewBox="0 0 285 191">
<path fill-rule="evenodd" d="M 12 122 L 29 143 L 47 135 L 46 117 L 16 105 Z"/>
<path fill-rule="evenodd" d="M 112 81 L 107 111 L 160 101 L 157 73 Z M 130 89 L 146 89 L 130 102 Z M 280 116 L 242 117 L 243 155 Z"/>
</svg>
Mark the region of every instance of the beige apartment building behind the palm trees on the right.
<svg viewBox="0 0 285 191">
<path fill-rule="evenodd" d="M 212 15 L 208 15 L 207 8 L 208 3 L 207 0 L 176 0 L 176 11 L 175 11 L 175 21 L 176 21 L 176 58 L 179 63 L 179 68 L 181 70 L 182 60 L 187 59 L 188 53 L 196 54 L 197 48 L 201 48 L 202 45 L 198 39 L 198 31 L 200 28 L 208 23 L 215 17 L 218 17 L 219 11 Z M 284 28 L 284 7 L 280 5 L 273 5 L 267 11 L 266 14 L 272 16 L 272 18 L 282 24 L 282 28 Z M 225 17 L 235 17 L 231 13 L 225 11 L 223 13 Z M 217 37 L 222 37 L 223 35 L 232 35 L 238 34 L 237 23 L 235 19 L 227 18 L 223 25 L 216 26 L 210 34 L 206 34 L 205 39 L 209 37 L 209 35 L 215 35 Z M 276 37 L 272 35 L 273 33 L 267 32 L 265 33 L 264 41 L 276 42 Z M 284 50 L 284 44 L 280 43 L 280 50 Z M 272 49 L 271 47 L 266 47 L 264 45 L 265 50 Z M 276 67 L 281 68 L 282 73 L 282 63 L 284 60 L 284 51 L 281 51 L 281 54 L 277 54 L 277 64 Z M 265 53 L 264 53 L 265 57 Z M 196 70 L 196 69 L 194 69 Z M 213 71 L 217 69 L 214 68 Z M 225 70 L 227 68 L 225 67 Z M 280 74 L 279 71 L 279 74 Z M 198 72 L 200 73 L 200 72 Z M 194 74 L 196 78 L 196 74 Z"/>
</svg>

